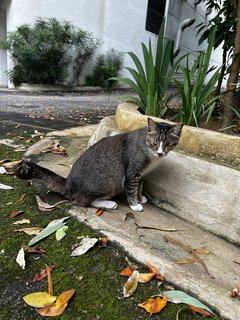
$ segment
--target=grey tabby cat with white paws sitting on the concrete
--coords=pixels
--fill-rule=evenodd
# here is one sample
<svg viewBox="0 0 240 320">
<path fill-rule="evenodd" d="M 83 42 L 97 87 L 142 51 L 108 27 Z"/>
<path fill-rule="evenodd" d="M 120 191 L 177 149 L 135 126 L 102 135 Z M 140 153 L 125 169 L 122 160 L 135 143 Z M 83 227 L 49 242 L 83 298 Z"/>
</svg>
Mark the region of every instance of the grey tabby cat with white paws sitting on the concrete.
<svg viewBox="0 0 240 320">
<path fill-rule="evenodd" d="M 125 191 L 133 211 L 142 211 L 142 174 L 151 157 L 163 157 L 178 144 L 182 124 L 157 123 L 101 139 L 87 149 L 63 178 L 54 172 L 23 160 L 16 170 L 22 179 L 41 179 L 52 190 L 79 206 L 116 209 L 109 200 Z"/>
</svg>

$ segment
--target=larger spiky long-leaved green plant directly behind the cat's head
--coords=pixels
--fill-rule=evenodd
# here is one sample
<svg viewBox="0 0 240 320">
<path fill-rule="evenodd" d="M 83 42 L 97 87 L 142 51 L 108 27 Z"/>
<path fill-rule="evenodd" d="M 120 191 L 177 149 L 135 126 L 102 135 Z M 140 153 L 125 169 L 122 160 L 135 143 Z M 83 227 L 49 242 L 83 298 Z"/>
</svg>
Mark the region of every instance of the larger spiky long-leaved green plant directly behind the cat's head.
<svg viewBox="0 0 240 320">
<path fill-rule="evenodd" d="M 127 96 L 126 99 L 137 104 L 145 114 L 163 116 L 169 100 L 166 90 L 183 57 L 174 62 L 174 42 L 167 40 L 166 46 L 164 45 L 164 21 L 157 37 L 155 57 L 151 39 L 149 39 L 148 47 L 144 43 L 141 43 L 141 46 L 144 64 L 135 53 L 128 52 L 136 67 L 135 69 L 125 67 L 130 72 L 132 79 L 113 77 L 111 80 L 130 86 L 137 97 Z"/>
</svg>

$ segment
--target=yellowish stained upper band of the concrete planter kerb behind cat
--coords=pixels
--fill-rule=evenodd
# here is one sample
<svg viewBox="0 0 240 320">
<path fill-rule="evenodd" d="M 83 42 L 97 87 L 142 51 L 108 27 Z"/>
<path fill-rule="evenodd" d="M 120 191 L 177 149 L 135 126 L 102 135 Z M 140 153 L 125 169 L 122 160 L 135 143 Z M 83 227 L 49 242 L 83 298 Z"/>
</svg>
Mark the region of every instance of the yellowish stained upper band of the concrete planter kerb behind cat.
<svg viewBox="0 0 240 320">
<path fill-rule="evenodd" d="M 147 125 L 148 116 L 142 115 L 132 103 L 122 103 L 115 115 L 116 126 L 121 131 L 131 131 Z M 165 121 L 159 118 L 155 121 Z M 240 169 L 240 138 L 223 133 L 184 126 L 178 150 L 228 164 Z"/>
</svg>

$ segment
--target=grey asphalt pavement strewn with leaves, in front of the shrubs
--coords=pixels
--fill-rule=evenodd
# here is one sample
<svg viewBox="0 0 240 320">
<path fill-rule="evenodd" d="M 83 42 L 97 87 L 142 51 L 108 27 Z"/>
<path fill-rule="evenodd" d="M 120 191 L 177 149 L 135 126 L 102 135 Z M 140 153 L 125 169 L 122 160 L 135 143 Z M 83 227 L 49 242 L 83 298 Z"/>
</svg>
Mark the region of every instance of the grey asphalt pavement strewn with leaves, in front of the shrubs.
<svg viewBox="0 0 240 320">
<path fill-rule="evenodd" d="M 115 113 L 126 92 L 29 93 L 0 91 L 0 134 L 18 124 L 51 131 L 96 124 Z"/>
</svg>

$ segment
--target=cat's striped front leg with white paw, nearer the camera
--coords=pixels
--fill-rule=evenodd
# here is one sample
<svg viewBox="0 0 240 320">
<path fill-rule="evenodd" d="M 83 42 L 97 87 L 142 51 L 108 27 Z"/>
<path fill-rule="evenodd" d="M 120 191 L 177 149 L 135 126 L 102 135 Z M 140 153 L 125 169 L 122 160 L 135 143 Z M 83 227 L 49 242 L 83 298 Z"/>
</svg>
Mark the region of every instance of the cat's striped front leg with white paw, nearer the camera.
<svg viewBox="0 0 240 320">
<path fill-rule="evenodd" d="M 138 203 L 138 184 L 140 176 L 132 176 L 126 179 L 126 195 L 130 208 L 133 211 L 143 211 L 143 206 Z"/>
</svg>

